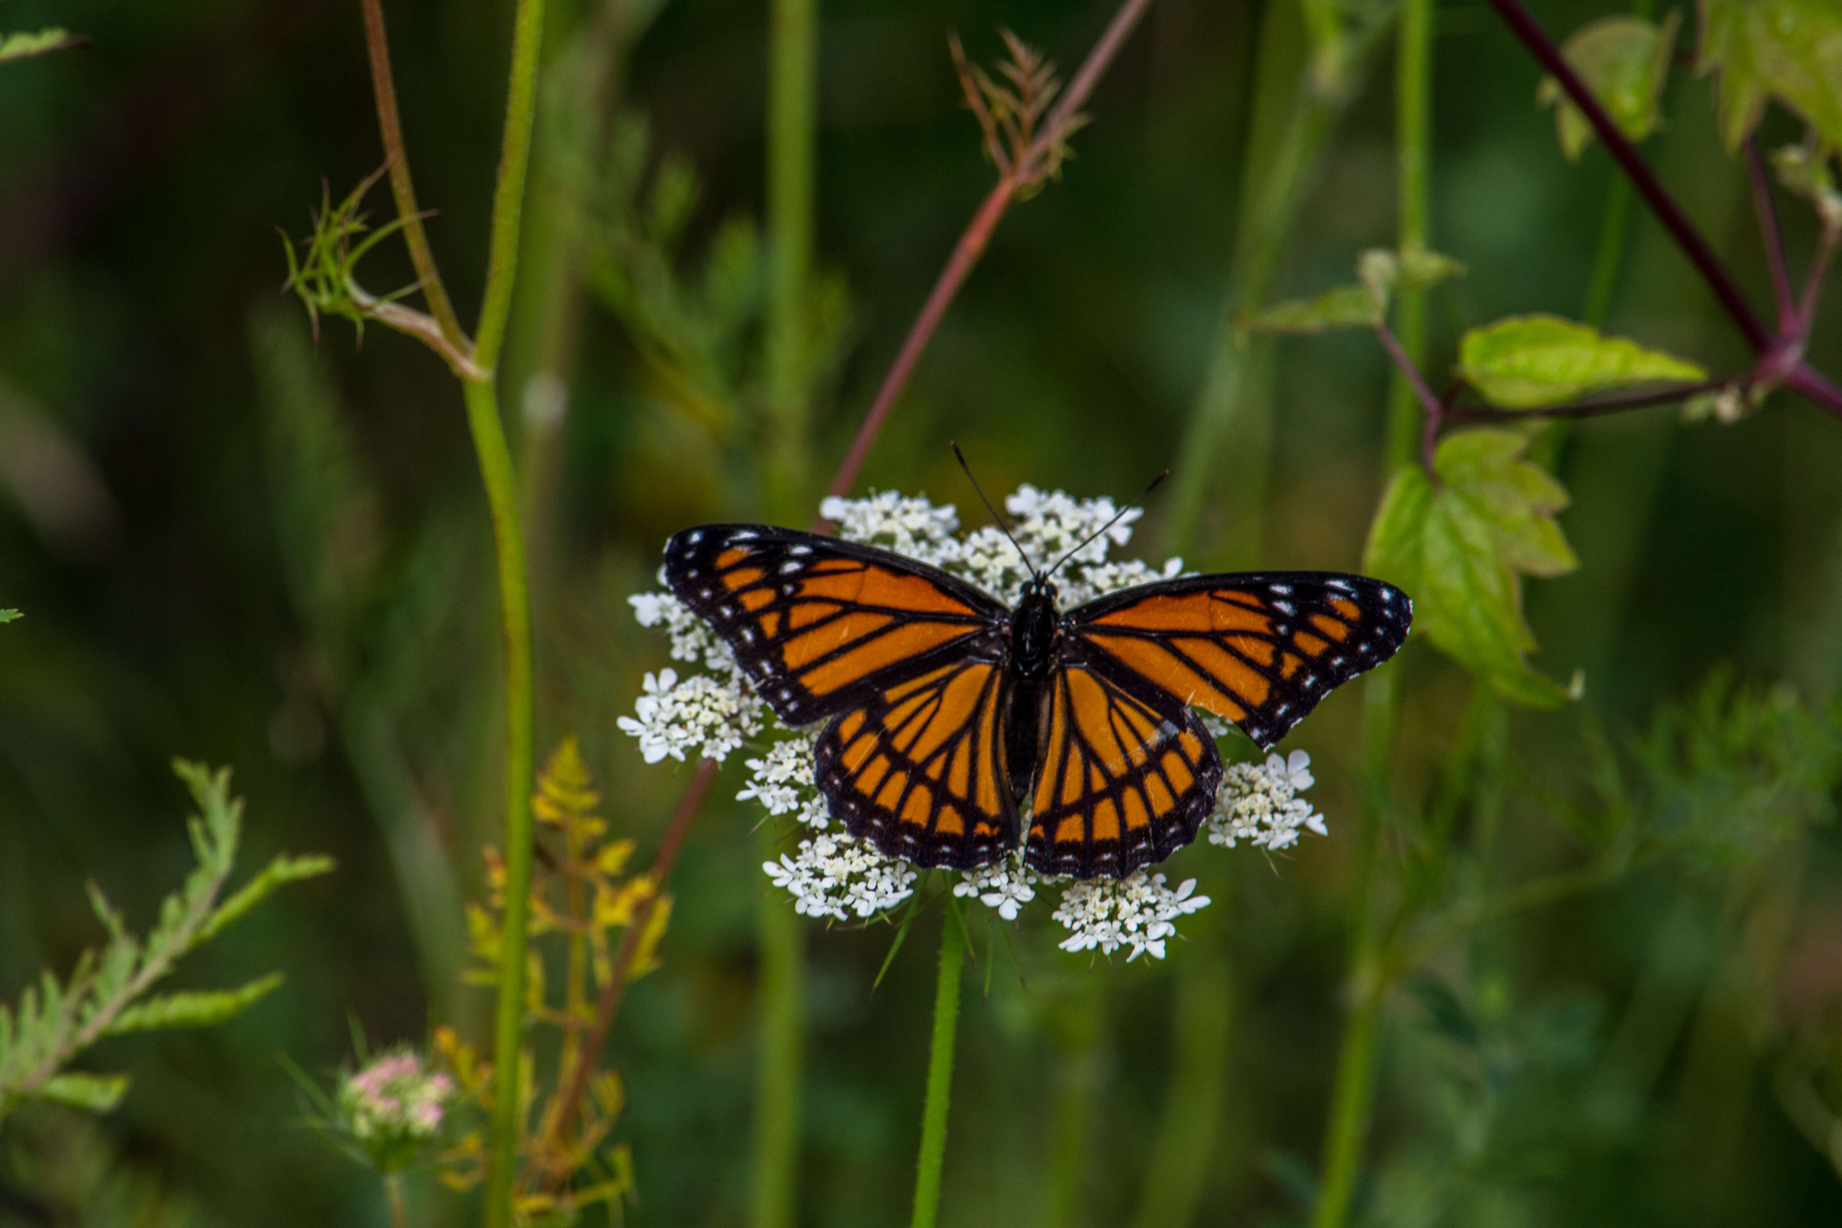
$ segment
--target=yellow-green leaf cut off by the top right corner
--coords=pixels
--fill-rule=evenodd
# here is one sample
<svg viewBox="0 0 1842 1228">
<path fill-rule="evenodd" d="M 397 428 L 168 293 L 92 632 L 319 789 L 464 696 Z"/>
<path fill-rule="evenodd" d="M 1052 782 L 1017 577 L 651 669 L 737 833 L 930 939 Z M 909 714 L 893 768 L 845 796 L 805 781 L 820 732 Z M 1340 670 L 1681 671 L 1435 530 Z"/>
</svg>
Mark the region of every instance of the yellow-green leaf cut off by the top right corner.
<svg viewBox="0 0 1842 1228">
<path fill-rule="evenodd" d="M 1720 74 L 1720 140 L 1730 151 L 1759 123 L 1766 99 L 1801 114 L 1842 145 L 1842 6 L 1835 0 L 1700 0 L 1695 68 Z"/>
</svg>

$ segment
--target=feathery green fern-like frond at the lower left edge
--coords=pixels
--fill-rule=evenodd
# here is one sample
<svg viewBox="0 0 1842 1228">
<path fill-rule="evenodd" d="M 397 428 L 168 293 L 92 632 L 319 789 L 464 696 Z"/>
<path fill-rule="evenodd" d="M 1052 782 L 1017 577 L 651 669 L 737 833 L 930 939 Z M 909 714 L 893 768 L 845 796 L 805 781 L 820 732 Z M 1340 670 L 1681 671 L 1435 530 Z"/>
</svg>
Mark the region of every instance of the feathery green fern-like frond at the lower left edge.
<svg viewBox="0 0 1842 1228">
<path fill-rule="evenodd" d="M 217 937 L 286 882 L 324 875 L 324 856 L 278 856 L 228 900 L 219 895 L 236 865 L 243 799 L 230 797 L 230 770 L 175 762 L 199 812 L 192 849 L 199 858 L 184 886 L 166 897 L 146 937 L 127 924 L 96 884 L 90 906 L 109 941 L 83 952 L 70 978 L 46 970 L 17 1005 L 0 1003 L 0 1119 L 18 1101 L 42 1099 L 107 1112 L 127 1092 L 127 1075 L 66 1070 L 103 1037 L 171 1027 L 212 1027 L 239 1014 L 282 983 L 280 972 L 238 989 L 149 994 L 182 956 Z"/>
</svg>

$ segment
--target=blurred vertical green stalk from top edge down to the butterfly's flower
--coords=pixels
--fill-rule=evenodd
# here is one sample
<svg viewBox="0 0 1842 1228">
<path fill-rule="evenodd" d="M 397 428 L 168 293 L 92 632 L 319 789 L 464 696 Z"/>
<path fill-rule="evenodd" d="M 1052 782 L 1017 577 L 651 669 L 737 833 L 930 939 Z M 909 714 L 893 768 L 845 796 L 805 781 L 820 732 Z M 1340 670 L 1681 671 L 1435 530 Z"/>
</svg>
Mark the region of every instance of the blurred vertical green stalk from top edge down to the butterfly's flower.
<svg viewBox="0 0 1842 1228">
<path fill-rule="evenodd" d="M 768 52 L 768 508 L 805 508 L 810 469 L 807 282 L 812 265 L 816 0 L 772 0 Z"/>
</svg>

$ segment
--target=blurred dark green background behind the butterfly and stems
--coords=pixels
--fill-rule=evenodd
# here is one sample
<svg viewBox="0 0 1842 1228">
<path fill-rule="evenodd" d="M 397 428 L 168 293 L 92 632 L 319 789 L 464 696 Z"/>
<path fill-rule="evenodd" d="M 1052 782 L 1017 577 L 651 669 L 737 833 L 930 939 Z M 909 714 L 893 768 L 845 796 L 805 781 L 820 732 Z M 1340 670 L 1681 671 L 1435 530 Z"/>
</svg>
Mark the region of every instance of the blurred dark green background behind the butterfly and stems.
<svg viewBox="0 0 1842 1228">
<path fill-rule="evenodd" d="M 567 64 L 586 6 L 553 9 L 553 64 Z M 643 766 L 615 729 L 641 674 L 665 663 L 626 597 L 654 585 L 669 532 L 761 499 L 748 414 L 763 271 L 742 223 L 764 210 L 768 28 L 753 2 L 628 9 L 619 155 L 545 180 L 540 136 L 505 401 L 532 508 L 538 751 L 580 736 L 615 832 L 648 851 L 689 773 Z M 510 6 L 387 11 L 418 193 L 438 210 L 433 243 L 470 317 Z M 1534 11 L 1568 33 L 1612 9 Z M 836 280 L 836 361 L 816 385 L 816 475 L 844 453 L 991 182 L 949 31 L 991 59 L 1006 26 L 1072 70 L 1109 15 L 1087 0 L 822 2 L 816 258 Z M 1431 245 L 1470 271 L 1429 302 L 1442 374 L 1470 324 L 1580 315 L 1612 164 L 1597 145 L 1562 158 L 1534 105 L 1536 66 L 1485 6 L 1440 4 L 1435 20 Z M 490 538 L 455 381 L 381 328 L 356 344 L 322 320 L 315 346 L 280 293 L 274 228 L 306 234 L 322 177 L 337 197 L 381 162 L 359 9 L 7 0 L 0 22 L 94 39 L 0 72 L 0 606 L 26 613 L 0 631 L 0 994 L 96 941 L 87 878 L 144 917 L 184 875 L 173 755 L 236 768 L 247 865 L 278 849 L 339 860 L 186 974 L 230 983 L 284 967 L 284 991 L 221 1031 L 109 1042 L 103 1060 L 136 1079 L 123 1108 L 98 1132 L 57 1116 L 9 1123 L 0 1184 L 83 1184 L 70 1173 L 88 1164 L 134 1191 L 109 1197 L 146 1195 L 173 1217 L 134 1222 L 383 1222 L 374 1182 L 291 1127 L 300 1108 L 276 1055 L 335 1066 L 348 1014 L 378 1040 L 418 1040 L 431 1018 L 479 1033 L 486 1002 L 451 972 L 460 895 L 479 893 L 479 849 L 497 840 L 501 700 Z M 927 492 L 982 523 L 949 438 L 987 490 L 1127 497 L 1164 466 L 1207 466 L 1190 565 L 1358 565 L 1383 482 L 1387 372 L 1372 339 L 1280 342 L 1271 383 L 1245 394 L 1269 387 L 1265 409 L 1236 407 L 1214 455 L 1179 447 L 1236 344 L 1225 311 L 1243 193 L 1265 173 L 1249 133 L 1273 22 L 1297 22 L 1288 0 L 1153 4 L 1061 182 L 1004 219 L 860 490 Z M 1391 48 L 1383 29 L 1332 114 L 1269 298 L 1348 280 L 1361 249 L 1394 241 Z M 540 131 L 560 144 L 567 94 L 545 101 Z M 1768 302 L 1743 169 L 1687 66 L 1665 116 L 1649 156 Z M 1798 134 L 1783 114 L 1763 133 Z M 683 171 L 696 191 L 674 206 Z M 553 237 L 543 191 L 575 193 L 599 236 L 554 440 L 525 425 L 519 392 L 553 341 L 530 272 Z M 387 193 L 374 204 L 387 212 Z M 674 210 L 682 225 L 663 225 Z M 1801 267 L 1814 226 L 1789 201 L 1785 217 Z M 413 280 L 396 245 L 363 276 L 374 291 Z M 1746 363 L 1641 208 L 1608 328 L 1715 372 Z M 1816 365 L 1842 366 L 1838 342 L 1831 311 Z M 1404 978 L 1382 1014 L 1359 1222 L 1842 1215 L 1836 1169 L 1787 1108 L 1836 1090 L 1842 845 L 1820 823 L 1776 823 L 1825 816 L 1833 775 L 1811 768 L 1805 786 L 1800 764 L 1759 749 L 1770 736 L 1722 744 L 1713 782 L 1693 762 L 1671 777 L 1630 742 L 1722 666 L 1744 685 L 1789 683 L 1833 729 L 1838 471 L 1842 425 L 1789 398 L 1731 427 L 1660 409 L 1568 433 L 1562 523 L 1582 567 L 1529 585 L 1527 608 L 1536 663 L 1560 679 L 1584 670 L 1584 700 L 1503 718 L 1494 838 L 1453 873 L 1512 884 L 1577 863 L 1597 840 L 1582 828 L 1617 805 L 1719 812 L 1741 830 L 1481 926 Z M 1172 536 L 1155 497 L 1131 549 L 1162 562 Z M 1402 679 L 1393 781 L 1413 810 L 1451 771 L 1470 683 L 1424 644 Z M 1203 845 L 1172 862 L 1216 906 L 1162 965 L 1063 956 L 1046 909 L 1017 939 L 1017 967 L 1000 943 L 987 974 L 978 952 L 943 1222 L 1170 1222 L 1160 1151 L 1184 1140 L 1205 1149 L 1201 1184 L 1175 1202 L 1194 1208 L 1184 1222 L 1306 1215 L 1345 1003 L 1359 724 L 1350 687 L 1288 742 L 1313 755 L 1328 838 L 1277 860 Z M 1628 794 L 1617 805 L 1614 771 Z M 766 882 L 757 812 L 728 801 L 737 781 L 731 764 L 693 828 L 663 968 L 634 989 L 612 1048 L 632 1095 L 635 1224 L 748 1221 Z M 1411 823 L 1389 838 L 1402 863 L 1415 847 Z M 871 994 L 888 930 L 805 926 L 801 1224 L 906 1217 L 936 928 Z M 1201 1092 L 1175 1103 L 1173 1088 Z M 413 1195 L 429 1222 L 459 1222 L 433 1184 Z M 0 1222 L 39 1222 L 9 1206 L 0 1197 Z M 133 1219 L 109 1215 L 81 1222 Z"/>
</svg>

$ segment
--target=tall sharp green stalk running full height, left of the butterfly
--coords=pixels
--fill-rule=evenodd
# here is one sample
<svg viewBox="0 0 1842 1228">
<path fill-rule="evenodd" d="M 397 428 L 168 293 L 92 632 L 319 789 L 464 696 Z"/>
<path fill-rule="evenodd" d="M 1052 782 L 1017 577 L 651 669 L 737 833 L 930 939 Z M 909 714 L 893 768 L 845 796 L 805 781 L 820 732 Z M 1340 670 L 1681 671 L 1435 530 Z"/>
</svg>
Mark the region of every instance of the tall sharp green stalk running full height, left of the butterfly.
<svg viewBox="0 0 1842 1228">
<path fill-rule="evenodd" d="M 488 372 L 466 381 L 466 418 L 492 512 L 505 622 L 505 935 L 499 954 L 499 1007 L 494 1025 L 494 1103 L 488 1132 L 486 1228 L 510 1228 L 518 1180 L 519 1049 L 525 1038 L 525 948 L 530 911 L 530 589 L 518 519 L 518 477 L 505 442 L 499 394 L 490 374 L 505 344 L 518 278 L 519 215 L 530 166 L 530 125 L 543 44 L 543 0 L 518 0 L 512 33 L 512 85 L 505 105 L 505 144 L 492 201 L 492 249 L 473 357 Z"/>
</svg>

